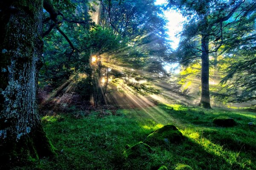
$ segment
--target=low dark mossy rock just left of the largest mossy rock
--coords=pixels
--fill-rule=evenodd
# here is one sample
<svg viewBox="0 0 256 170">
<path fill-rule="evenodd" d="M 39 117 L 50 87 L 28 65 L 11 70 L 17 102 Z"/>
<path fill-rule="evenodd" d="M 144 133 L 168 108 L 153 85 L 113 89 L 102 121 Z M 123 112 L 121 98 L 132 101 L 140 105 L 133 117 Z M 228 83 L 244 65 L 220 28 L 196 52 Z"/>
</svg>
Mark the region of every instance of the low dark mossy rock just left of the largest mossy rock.
<svg viewBox="0 0 256 170">
<path fill-rule="evenodd" d="M 145 144 L 143 142 L 138 142 L 133 146 L 126 144 L 123 154 L 125 158 L 137 158 L 137 157 L 145 158 L 145 157 L 148 157 L 149 153 L 152 153 L 151 147 L 148 144 Z"/>
</svg>

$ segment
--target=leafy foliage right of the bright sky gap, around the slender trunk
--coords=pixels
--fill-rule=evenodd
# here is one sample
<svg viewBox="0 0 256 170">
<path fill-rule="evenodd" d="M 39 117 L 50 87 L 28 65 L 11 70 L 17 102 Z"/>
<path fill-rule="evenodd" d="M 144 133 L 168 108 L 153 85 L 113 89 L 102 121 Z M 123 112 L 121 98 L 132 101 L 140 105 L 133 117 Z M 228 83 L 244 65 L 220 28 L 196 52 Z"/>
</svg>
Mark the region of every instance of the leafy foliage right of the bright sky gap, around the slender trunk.
<svg viewBox="0 0 256 170">
<path fill-rule="evenodd" d="M 192 66 L 198 63 L 199 57 L 206 52 L 212 60 L 210 64 L 216 66 L 223 63 L 217 59 L 221 55 L 230 65 L 228 69 L 223 69 L 223 73 L 227 75 L 222 83 L 227 84 L 224 89 L 221 89 L 223 84 L 212 86 L 212 94 L 224 103 L 255 99 L 255 73 L 252 74 L 255 70 L 254 2 L 170 0 L 168 6 L 178 8 L 180 13 L 187 17 L 180 33 L 180 45 L 177 51 L 171 54 L 171 60 Z M 207 44 L 209 42 L 209 51 L 202 48 L 205 42 L 203 39 L 207 39 Z M 219 78 L 223 78 L 222 75 Z"/>
</svg>

